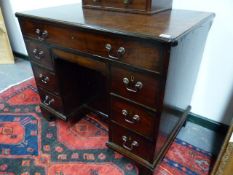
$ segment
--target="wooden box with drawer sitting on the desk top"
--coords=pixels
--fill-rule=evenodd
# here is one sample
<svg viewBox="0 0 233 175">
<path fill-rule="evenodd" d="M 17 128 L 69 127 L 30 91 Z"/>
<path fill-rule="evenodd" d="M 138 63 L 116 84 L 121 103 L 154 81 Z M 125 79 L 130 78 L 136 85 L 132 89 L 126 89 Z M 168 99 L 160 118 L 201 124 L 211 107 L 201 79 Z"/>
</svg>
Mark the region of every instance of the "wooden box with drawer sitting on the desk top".
<svg viewBox="0 0 233 175">
<path fill-rule="evenodd" d="M 153 14 L 172 8 L 172 0 L 82 0 L 84 8 Z"/>
</svg>

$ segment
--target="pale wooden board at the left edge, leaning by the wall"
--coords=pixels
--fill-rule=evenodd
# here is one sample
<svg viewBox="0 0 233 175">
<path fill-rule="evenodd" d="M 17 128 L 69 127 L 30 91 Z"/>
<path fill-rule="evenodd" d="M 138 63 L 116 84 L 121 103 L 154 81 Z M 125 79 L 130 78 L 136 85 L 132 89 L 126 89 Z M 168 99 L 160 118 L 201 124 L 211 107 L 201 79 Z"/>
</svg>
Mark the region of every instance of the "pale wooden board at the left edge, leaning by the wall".
<svg viewBox="0 0 233 175">
<path fill-rule="evenodd" d="M 2 11 L 0 8 L 0 64 L 14 63 L 14 56 L 11 51 Z"/>
</svg>

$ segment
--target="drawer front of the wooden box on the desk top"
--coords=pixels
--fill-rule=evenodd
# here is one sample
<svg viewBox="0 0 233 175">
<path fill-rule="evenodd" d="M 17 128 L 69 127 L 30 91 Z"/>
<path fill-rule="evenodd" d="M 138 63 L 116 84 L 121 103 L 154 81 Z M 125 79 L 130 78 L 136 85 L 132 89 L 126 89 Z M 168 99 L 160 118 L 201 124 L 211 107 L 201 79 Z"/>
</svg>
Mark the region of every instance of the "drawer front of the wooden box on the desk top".
<svg viewBox="0 0 233 175">
<path fill-rule="evenodd" d="M 126 10 L 146 10 L 146 0 L 83 0 L 83 5 Z"/>
</svg>

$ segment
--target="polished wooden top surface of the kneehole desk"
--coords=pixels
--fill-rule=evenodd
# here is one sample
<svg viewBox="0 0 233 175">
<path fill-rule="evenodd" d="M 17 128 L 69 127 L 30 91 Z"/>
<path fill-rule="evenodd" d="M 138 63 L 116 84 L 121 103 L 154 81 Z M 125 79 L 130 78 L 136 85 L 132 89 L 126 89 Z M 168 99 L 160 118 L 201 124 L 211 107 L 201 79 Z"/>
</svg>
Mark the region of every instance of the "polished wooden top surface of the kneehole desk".
<svg viewBox="0 0 233 175">
<path fill-rule="evenodd" d="M 81 4 L 18 12 L 16 16 L 65 23 L 105 32 L 174 42 L 185 33 L 212 20 L 214 13 L 167 10 L 154 15 L 82 9 Z"/>
</svg>

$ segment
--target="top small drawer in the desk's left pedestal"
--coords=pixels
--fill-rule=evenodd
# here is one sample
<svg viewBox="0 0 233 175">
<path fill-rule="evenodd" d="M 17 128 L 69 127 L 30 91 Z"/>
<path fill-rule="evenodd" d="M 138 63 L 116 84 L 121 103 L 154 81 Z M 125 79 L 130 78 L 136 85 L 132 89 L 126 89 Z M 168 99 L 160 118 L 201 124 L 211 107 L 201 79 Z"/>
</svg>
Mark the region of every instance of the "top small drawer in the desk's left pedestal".
<svg viewBox="0 0 233 175">
<path fill-rule="evenodd" d="M 46 46 L 28 40 L 25 40 L 25 43 L 31 61 L 53 70 L 53 62 Z"/>
</svg>

